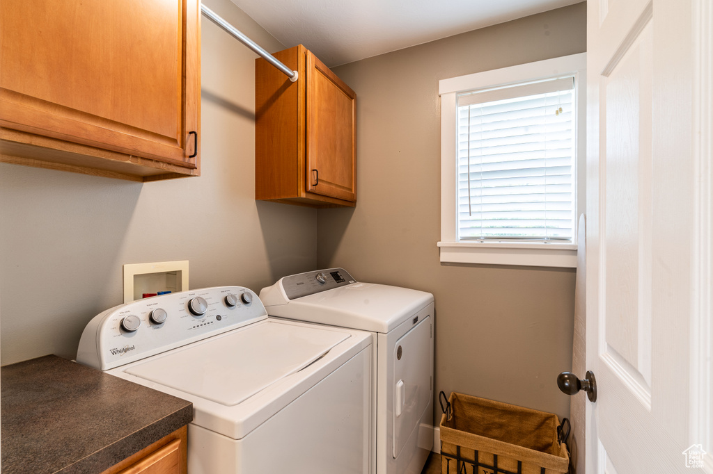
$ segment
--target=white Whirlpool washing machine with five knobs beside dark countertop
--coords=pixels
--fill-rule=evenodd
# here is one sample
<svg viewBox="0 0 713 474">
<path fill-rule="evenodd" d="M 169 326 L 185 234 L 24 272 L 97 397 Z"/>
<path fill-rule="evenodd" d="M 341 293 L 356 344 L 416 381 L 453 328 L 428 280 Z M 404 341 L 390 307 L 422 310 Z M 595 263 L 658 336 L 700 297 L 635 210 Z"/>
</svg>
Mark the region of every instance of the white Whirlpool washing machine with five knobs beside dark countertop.
<svg viewBox="0 0 713 474">
<path fill-rule="evenodd" d="M 89 322 L 77 361 L 193 402 L 191 474 L 371 473 L 371 335 L 267 317 L 247 288 Z"/>
</svg>

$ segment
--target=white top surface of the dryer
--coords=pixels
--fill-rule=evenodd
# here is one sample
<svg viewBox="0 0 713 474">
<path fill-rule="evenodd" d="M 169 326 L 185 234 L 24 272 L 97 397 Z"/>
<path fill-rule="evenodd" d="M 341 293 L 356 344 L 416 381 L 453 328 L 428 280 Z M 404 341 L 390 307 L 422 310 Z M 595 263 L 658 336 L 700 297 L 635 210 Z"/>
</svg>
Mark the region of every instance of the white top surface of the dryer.
<svg viewBox="0 0 713 474">
<path fill-rule="evenodd" d="M 434 295 L 424 291 L 352 283 L 282 305 L 265 304 L 265 309 L 270 316 L 385 333 L 433 301 Z"/>
</svg>

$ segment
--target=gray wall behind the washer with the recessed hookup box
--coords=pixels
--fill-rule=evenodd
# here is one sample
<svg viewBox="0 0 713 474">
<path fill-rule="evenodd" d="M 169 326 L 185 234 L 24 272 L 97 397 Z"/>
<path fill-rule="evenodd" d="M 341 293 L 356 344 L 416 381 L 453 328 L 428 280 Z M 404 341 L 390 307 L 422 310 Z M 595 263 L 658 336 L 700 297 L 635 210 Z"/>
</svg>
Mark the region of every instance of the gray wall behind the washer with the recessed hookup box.
<svg viewBox="0 0 713 474">
<path fill-rule="evenodd" d="M 265 48 L 228 0 L 205 1 Z M 190 286 L 260 291 L 316 263 L 316 211 L 255 202 L 255 54 L 202 21 L 202 176 L 146 184 L 0 164 L 2 364 L 76 356 L 122 265 L 190 260 Z"/>
</svg>

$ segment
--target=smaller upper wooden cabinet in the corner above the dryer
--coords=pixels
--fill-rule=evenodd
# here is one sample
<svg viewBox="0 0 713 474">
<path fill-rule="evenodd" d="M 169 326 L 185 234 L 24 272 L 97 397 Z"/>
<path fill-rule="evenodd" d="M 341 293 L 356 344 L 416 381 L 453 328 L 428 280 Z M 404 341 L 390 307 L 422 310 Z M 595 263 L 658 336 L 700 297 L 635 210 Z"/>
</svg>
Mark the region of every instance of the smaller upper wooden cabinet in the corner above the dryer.
<svg viewBox="0 0 713 474">
<path fill-rule="evenodd" d="M 356 205 L 356 94 L 299 45 L 255 65 L 255 199 Z"/>
</svg>

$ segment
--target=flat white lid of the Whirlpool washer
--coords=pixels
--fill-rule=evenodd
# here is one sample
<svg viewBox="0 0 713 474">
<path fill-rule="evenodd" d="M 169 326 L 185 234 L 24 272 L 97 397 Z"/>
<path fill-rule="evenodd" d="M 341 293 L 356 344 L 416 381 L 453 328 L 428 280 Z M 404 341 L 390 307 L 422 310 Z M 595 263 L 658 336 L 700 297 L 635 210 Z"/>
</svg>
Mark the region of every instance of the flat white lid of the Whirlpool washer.
<svg viewBox="0 0 713 474">
<path fill-rule="evenodd" d="M 268 320 L 154 357 L 125 372 L 234 406 L 299 372 L 349 337 L 343 332 Z"/>
</svg>

